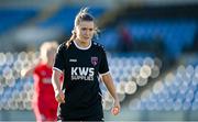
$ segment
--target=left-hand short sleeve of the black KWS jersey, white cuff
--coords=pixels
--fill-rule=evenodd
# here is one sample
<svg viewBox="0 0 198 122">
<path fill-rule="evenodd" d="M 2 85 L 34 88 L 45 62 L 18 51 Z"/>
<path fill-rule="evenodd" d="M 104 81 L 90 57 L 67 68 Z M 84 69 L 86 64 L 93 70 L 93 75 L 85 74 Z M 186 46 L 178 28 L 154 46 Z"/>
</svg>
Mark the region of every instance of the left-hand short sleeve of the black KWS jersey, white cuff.
<svg viewBox="0 0 198 122">
<path fill-rule="evenodd" d="M 65 66 L 65 53 L 64 52 L 65 52 L 65 46 L 64 46 L 64 44 L 62 44 L 57 48 L 53 69 L 56 69 L 58 71 L 64 70 L 64 66 Z"/>
</svg>

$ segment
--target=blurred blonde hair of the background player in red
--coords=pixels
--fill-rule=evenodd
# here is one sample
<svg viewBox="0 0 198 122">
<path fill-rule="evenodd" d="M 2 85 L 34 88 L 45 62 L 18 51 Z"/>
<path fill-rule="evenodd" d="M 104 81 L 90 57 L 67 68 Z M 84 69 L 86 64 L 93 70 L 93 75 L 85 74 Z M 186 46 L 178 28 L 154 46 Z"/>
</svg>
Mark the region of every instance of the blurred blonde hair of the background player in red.
<svg viewBox="0 0 198 122">
<path fill-rule="evenodd" d="M 57 47 L 58 47 L 58 44 L 55 41 L 43 43 L 40 47 L 40 58 L 42 60 L 46 60 L 47 52 L 50 52 L 52 49 L 56 51 Z"/>
</svg>

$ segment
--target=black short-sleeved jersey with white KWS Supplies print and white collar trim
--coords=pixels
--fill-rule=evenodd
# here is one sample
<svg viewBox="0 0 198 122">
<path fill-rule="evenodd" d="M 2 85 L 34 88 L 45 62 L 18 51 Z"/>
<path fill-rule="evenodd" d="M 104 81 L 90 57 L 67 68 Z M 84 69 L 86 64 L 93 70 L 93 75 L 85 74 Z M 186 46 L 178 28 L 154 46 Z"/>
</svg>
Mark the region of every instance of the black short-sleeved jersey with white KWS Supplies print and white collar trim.
<svg viewBox="0 0 198 122">
<path fill-rule="evenodd" d="M 67 48 L 61 44 L 54 69 L 64 71 L 65 103 L 59 106 L 61 115 L 77 118 L 91 115 L 101 108 L 98 76 L 109 71 L 103 47 L 96 43 L 80 48 L 72 42 Z"/>
</svg>

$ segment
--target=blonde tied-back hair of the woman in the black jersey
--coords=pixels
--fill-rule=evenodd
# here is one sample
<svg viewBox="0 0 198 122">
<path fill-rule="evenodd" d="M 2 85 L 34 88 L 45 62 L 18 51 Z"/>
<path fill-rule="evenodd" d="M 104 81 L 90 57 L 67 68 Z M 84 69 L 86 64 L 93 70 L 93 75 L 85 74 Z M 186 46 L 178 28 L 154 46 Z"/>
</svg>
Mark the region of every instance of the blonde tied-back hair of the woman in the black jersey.
<svg viewBox="0 0 198 122">
<path fill-rule="evenodd" d="M 76 27 L 77 25 L 79 25 L 80 22 L 82 22 L 82 21 L 94 21 L 94 22 L 95 22 L 94 16 L 88 12 L 88 10 L 89 10 L 89 8 L 82 8 L 82 9 L 78 12 L 78 14 L 76 15 L 76 18 L 75 18 L 75 23 L 74 23 L 74 30 L 72 31 L 72 36 L 70 36 L 70 38 L 69 38 L 68 41 L 66 41 L 66 46 L 67 46 L 67 48 L 69 47 L 72 41 L 74 41 L 74 40 L 76 38 L 75 27 Z M 98 27 L 95 25 L 94 35 L 95 35 L 96 37 L 98 37 L 98 32 L 99 32 L 99 30 L 98 30 Z"/>
</svg>

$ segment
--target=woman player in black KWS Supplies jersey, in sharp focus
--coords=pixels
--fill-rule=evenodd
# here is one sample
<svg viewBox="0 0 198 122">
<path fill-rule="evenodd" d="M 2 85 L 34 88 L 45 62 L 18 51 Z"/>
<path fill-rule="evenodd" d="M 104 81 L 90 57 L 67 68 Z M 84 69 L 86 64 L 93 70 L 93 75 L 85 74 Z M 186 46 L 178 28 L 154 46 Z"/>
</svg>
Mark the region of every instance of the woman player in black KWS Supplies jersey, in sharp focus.
<svg viewBox="0 0 198 122">
<path fill-rule="evenodd" d="M 62 121 L 102 121 L 103 110 L 98 77 L 101 76 L 114 98 L 112 113 L 120 111 L 116 88 L 109 73 L 103 46 L 91 41 L 97 32 L 94 18 L 82 9 L 75 19 L 73 35 L 59 45 L 53 67 L 52 82 Z M 58 77 L 64 73 L 61 89 Z"/>
</svg>

